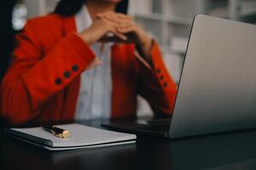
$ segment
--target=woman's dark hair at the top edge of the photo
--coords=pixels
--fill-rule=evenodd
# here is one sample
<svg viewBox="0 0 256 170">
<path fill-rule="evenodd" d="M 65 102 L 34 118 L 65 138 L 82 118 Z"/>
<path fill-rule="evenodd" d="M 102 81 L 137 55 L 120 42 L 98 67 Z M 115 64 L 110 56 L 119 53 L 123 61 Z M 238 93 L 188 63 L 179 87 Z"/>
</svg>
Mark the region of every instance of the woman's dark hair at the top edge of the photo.
<svg viewBox="0 0 256 170">
<path fill-rule="evenodd" d="M 82 8 L 86 0 L 61 0 L 57 4 L 54 14 L 61 14 L 61 16 L 72 16 L 77 14 Z M 117 4 L 116 12 L 127 14 L 128 0 L 123 0 Z"/>
</svg>

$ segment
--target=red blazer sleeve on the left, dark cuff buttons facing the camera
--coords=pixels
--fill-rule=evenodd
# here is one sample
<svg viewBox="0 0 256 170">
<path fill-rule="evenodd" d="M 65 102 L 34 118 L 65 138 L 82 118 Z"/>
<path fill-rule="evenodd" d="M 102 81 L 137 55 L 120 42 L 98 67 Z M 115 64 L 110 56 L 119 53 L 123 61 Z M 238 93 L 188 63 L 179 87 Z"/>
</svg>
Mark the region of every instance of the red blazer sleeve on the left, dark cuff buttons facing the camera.
<svg viewBox="0 0 256 170">
<path fill-rule="evenodd" d="M 36 117 L 44 102 L 66 88 L 96 58 L 74 33 L 44 54 L 35 24 L 28 21 L 16 37 L 13 61 L 0 88 L 0 113 L 12 124 Z"/>
</svg>

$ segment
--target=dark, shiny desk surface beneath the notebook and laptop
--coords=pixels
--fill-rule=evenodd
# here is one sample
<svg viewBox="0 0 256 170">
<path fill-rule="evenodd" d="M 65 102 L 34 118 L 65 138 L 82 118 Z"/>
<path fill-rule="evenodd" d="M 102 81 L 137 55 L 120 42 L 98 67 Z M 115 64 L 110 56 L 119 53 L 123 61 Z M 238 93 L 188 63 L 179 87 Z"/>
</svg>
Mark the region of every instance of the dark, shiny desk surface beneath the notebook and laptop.
<svg viewBox="0 0 256 170">
<path fill-rule="evenodd" d="M 100 127 L 101 121 L 83 122 Z M 0 133 L 0 169 L 256 169 L 256 130 L 189 139 L 138 136 L 137 144 L 50 152 Z"/>
</svg>

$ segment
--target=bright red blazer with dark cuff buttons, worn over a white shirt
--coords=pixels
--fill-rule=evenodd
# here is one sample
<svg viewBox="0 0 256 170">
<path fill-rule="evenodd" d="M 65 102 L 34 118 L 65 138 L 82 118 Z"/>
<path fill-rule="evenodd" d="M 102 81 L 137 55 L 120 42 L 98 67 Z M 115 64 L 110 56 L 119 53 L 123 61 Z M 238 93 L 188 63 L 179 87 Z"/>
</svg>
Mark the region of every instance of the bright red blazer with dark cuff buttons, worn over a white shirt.
<svg viewBox="0 0 256 170">
<path fill-rule="evenodd" d="M 11 124 L 73 120 L 80 74 L 96 58 L 74 32 L 74 17 L 49 14 L 28 20 L 0 90 L 1 116 Z M 172 114 L 176 84 L 160 48 L 151 49 L 153 68 L 135 57 L 134 44 L 112 48 L 112 116 L 135 116 L 137 94 L 155 114 Z"/>
</svg>

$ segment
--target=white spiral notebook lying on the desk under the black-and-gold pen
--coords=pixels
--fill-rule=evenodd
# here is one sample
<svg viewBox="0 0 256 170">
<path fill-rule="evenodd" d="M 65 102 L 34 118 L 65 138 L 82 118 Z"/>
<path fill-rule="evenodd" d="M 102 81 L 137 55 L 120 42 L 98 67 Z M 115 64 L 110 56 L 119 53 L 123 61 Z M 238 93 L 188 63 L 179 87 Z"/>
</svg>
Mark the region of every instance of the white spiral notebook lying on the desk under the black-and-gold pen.
<svg viewBox="0 0 256 170">
<path fill-rule="evenodd" d="M 6 128 L 5 133 L 27 144 L 32 144 L 47 150 L 75 150 L 96 148 L 136 142 L 136 135 L 117 133 L 96 127 L 88 127 L 78 123 L 58 125 L 67 129 L 70 136 L 67 139 L 55 137 L 43 127 Z"/>
</svg>

